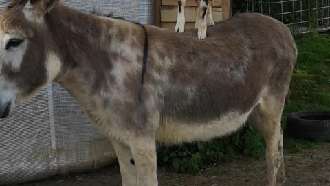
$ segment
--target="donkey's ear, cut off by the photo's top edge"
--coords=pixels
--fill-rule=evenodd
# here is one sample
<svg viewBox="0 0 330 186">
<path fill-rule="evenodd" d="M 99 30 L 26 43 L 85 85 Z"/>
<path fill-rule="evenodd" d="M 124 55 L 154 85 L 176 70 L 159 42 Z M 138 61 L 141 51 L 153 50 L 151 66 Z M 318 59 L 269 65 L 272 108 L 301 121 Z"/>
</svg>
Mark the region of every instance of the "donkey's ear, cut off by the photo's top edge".
<svg viewBox="0 0 330 186">
<path fill-rule="evenodd" d="M 41 19 L 45 14 L 49 13 L 60 0 L 29 0 L 25 4 L 24 13 L 30 21 Z"/>
</svg>

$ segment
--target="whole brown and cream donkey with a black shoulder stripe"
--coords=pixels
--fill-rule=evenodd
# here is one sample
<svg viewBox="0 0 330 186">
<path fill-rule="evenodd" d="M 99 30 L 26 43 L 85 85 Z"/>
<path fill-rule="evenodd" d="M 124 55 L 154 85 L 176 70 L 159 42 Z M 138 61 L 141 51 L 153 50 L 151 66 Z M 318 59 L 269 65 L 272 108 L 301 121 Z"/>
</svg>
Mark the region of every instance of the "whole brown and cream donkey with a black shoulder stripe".
<svg viewBox="0 0 330 186">
<path fill-rule="evenodd" d="M 58 1 L 12 1 L 0 17 L 1 118 L 56 81 L 109 136 L 122 185 L 146 186 L 158 185 L 155 141 L 206 141 L 248 121 L 267 145 L 267 184 L 284 182 L 281 114 L 297 50 L 283 23 L 240 14 L 200 41 L 196 30 L 97 17 Z"/>
</svg>

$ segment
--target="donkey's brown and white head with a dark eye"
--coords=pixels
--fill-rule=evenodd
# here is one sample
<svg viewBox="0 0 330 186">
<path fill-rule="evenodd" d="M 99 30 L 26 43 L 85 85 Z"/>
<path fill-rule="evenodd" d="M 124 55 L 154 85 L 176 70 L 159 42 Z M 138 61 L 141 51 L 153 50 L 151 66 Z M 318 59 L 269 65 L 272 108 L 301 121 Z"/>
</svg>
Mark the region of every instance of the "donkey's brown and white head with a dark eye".
<svg viewBox="0 0 330 186">
<path fill-rule="evenodd" d="M 45 16 L 58 0 L 13 1 L 0 16 L 0 118 L 58 76 Z"/>
</svg>

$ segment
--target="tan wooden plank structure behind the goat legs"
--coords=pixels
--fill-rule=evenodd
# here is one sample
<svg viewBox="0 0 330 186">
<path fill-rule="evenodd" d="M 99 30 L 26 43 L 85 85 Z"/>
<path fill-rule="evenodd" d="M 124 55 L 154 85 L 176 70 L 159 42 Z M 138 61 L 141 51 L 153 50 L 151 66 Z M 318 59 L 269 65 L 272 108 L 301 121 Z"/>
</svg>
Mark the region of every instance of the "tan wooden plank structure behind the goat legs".
<svg viewBox="0 0 330 186">
<path fill-rule="evenodd" d="M 187 0 L 185 15 L 186 29 L 194 28 L 197 18 L 197 0 Z M 155 1 L 155 25 L 174 30 L 177 21 L 177 0 Z M 230 17 L 230 0 L 213 0 L 212 16 L 214 22 Z"/>
</svg>

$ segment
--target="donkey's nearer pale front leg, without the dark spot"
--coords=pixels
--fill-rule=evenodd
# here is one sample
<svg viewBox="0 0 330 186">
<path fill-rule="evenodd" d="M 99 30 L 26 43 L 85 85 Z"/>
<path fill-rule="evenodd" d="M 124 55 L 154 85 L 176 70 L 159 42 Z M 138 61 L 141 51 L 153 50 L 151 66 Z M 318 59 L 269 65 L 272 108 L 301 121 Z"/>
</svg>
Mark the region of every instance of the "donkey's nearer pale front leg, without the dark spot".
<svg viewBox="0 0 330 186">
<path fill-rule="evenodd" d="M 151 137 L 135 137 L 131 143 L 131 151 L 137 169 L 140 186 L 157 186 L 157 155 L 155 139 Z"/>
</svg>

